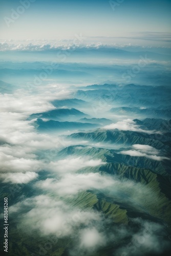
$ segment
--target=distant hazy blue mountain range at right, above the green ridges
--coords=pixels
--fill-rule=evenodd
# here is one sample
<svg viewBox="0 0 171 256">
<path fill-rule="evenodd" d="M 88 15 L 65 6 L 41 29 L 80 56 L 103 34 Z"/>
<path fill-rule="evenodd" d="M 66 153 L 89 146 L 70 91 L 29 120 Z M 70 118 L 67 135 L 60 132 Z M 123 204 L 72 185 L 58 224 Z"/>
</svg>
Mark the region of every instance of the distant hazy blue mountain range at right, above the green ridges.
<svg viewBox="0 0 171 256">
<path fill-rule="evenodd" d="M 170 107 L 171 89 L 168 86 L 139 86 L 127 84 L 115 86 L 102 84 L 90 86 L 88 90 L 78 90 L 75 97 L 86 101 L 104 101 L 113 107 L 138 107 L 151 109 L 168 109 Z M 164 101 L 163 101 L 164 98 Z M 170 109 L 169 109 L 170 110 Z"/>
</svg>

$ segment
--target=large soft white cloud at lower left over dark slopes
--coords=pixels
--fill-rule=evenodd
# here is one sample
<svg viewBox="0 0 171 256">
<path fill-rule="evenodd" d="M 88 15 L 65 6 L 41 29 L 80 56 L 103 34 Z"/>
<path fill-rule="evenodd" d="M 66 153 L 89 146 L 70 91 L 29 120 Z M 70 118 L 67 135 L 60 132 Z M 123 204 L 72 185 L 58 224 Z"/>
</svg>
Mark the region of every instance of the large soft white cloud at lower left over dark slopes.
<svg viewBox="0 0 171 256">
<path fill-rule="evenodd" d="M 40 195 L 27 198 L 9 207 L 11 215 L 20 212 L 20 227 L 38 230 L 42 235 L 55 234 L 58 238 L 71 236 L 81 225 L 92 226 L 103 220 L 94 210 L 80 210 L 65 202 Z"/>
</svg>

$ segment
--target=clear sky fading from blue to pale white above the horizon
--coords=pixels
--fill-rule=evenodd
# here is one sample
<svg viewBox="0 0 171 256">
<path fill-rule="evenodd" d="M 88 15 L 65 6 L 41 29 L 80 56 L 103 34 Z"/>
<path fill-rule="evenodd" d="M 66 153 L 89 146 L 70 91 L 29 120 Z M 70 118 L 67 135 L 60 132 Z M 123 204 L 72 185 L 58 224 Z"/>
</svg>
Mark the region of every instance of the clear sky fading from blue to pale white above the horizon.
<svg viewBox="0 0 171 256">
<path fill-rule="evenodd" d="M 3 40 L 68 40 L 81 34 L 109 44 L 118 38 L 139 45 L 171 41 L 168 0 L 1 0 L 0 5 Z"/>
</svg>

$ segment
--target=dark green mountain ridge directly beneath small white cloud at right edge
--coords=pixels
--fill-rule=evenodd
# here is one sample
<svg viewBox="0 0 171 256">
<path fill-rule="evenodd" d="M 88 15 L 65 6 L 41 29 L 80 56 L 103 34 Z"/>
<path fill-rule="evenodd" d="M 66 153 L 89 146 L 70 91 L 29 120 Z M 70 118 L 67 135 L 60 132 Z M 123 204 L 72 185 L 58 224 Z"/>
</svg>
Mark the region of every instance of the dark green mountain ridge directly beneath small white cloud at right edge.
<svg viewBox="0 0 171 256">
<path fill-rule="evenodd" d="M 127 150 L 127 149 L 126 149 Z M 132 157 L 129 155 L 123 155 L 120 153 L 119 150 L 108 150 L 106 148 L 101 147 L 91 147 L 90 146 L 83 146 L 83 145 L 76 145 L 76 146 L 69 146 L 64 148 L 58 153 L 59 158 L 66 158 L 67 156 L 76 155 L 76 156 L 92 156 L 94 158 L 100 158 L 102 161 L 111 163 L 112 166 L 115 163 L 115 169 L 111 169 L 113 174 L 117 174 L 120 170 L 122 172 L 125 169 L 125 166 L 133 166 L 135 168 L 145 168 L 149 169 L 151 172 L 169 176 L 171 174 L 171 166 L 169 165 L 169 160 L 157 161 L 147 157 Z M 106 166 L 109 165 L 102 165 L 102 167 L 97 167 L 99 170 L 103 170 Z M 122 166 L 122 167 L 121 167 Z M 86 168 L 86 170 L 88 170 Z M 91 168 L 91 171 L 93 169 Z M 125 169 L 125 172 L 126 169 Z"/>
</svg>

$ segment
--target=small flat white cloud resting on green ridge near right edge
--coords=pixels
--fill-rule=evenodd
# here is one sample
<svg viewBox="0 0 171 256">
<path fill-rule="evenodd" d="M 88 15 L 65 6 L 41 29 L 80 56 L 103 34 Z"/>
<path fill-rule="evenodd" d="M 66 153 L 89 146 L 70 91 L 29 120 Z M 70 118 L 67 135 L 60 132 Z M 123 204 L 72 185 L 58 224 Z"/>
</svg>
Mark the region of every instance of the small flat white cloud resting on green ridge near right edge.
<svg viewBox="0 0 171 256">
<path fill-rule="evenodd" d="M 120 151 L 122 155 L 129 155 L 132 157 L 147 157 L 156 161 L 162 161 L 164 159 L 169 160 L 168 157 L 159 156 L 161 152 L 156 148 L 149 145 L 134 144 L 133 150 Z"/>
</svg>

